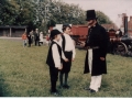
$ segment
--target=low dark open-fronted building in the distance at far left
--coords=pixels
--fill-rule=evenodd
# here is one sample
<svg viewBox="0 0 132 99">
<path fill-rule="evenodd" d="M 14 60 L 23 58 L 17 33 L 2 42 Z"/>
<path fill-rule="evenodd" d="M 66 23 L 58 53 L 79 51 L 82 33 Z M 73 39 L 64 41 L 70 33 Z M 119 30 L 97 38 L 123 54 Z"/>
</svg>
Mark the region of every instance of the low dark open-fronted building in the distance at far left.
<svg viewBox="0 0 132 99">
<path fill-rule="evenodd" d="M 23 32 L 26 32 L 26 25 L 0 25 L 0 36 L 21 37 Z"/>
</svg>

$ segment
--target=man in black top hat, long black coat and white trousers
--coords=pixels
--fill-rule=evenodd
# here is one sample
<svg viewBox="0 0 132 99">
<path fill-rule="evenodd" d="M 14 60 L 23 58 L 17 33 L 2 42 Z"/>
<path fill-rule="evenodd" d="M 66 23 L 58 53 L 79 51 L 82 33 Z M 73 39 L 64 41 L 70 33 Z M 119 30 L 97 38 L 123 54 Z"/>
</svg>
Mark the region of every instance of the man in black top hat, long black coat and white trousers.
<svg viewBox="0 0 132 99">
<path fill-rule="evenodd" d="M 109 35 L 98 24 L 95 10 L 87 11 L 88 36 L 81 45 L 87 47 L 84 74 L 91 74 L 90 86 L 85 88 L 90 92 L 97 92 L 101 87 L 102 74 L 107 74 L 106 55 Z"/>
</svg>

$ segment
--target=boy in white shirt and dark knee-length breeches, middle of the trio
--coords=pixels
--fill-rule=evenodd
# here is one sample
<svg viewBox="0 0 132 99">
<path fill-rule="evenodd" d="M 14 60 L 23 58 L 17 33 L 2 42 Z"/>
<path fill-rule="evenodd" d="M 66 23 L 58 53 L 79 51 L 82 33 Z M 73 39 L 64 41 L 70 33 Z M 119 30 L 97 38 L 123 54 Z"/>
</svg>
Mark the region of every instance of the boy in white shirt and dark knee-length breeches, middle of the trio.
<svg viewBox="0 0 132 99">
<path fill-rule="evenodd" d="M 69 88 L 67 84 L 68 79 L 68 73 L 70 72 L 72 62 L 75 59 L 76 51 L 75 51 L 75 44 L 73 38 L 69 36 L 70 33 L 70 25 L 69 24 L 63 24 L 63 34 L 62 38 L 59 41 L 59 45 L 63 48 L 64 55 L 66 58 L 68 58 L 68 62 L 63 61 L 63 69 L 59 74 L 59 82 L 61 88 Z M 63 76 L 65 75 L 65 81 L 63 82 Z"/>
</svg>

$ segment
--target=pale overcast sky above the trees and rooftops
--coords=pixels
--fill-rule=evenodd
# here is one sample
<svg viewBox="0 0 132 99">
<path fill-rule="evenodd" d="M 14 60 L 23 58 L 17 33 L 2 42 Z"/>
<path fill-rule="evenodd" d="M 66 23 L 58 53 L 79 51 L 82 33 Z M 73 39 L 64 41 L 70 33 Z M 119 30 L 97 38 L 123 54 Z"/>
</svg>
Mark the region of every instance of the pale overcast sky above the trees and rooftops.
<svg viewBox="0 0 132 99">
<path fill-rule="evenodd" d="M 132 0 L 62 0 L 67 3 L 79 4 L 84 10 L 95 9 L 102 11 L 118 25 L 120 19 L 118 14 L 127 13 L 128 16 L 132 15 Z"/>
</svg>

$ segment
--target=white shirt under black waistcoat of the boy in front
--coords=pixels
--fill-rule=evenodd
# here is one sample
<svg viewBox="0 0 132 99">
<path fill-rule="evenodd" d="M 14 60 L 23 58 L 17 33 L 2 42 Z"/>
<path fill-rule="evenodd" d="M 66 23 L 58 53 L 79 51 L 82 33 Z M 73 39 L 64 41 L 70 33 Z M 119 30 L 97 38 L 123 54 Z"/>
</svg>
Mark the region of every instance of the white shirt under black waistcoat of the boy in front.
<svg viewBox="0 0 132 99">
<path fill-rule="evenodd" d="M 53 40 L 53 41 L 58 44 L 58 42 L 56 40 Z M 55 63 L 55 67 L 61 67 L 62 66 L 61 56 L 59 56 L 59 52 L 58 52 L 58 48 L 57 48 L 56 44 L 53 44 L 53 46 L 52 46 L 52 53 L 53 53 L 53 61 Z M 62 58 L 66 59 L 63 51 L 62 51 Z"/>
</svg>

